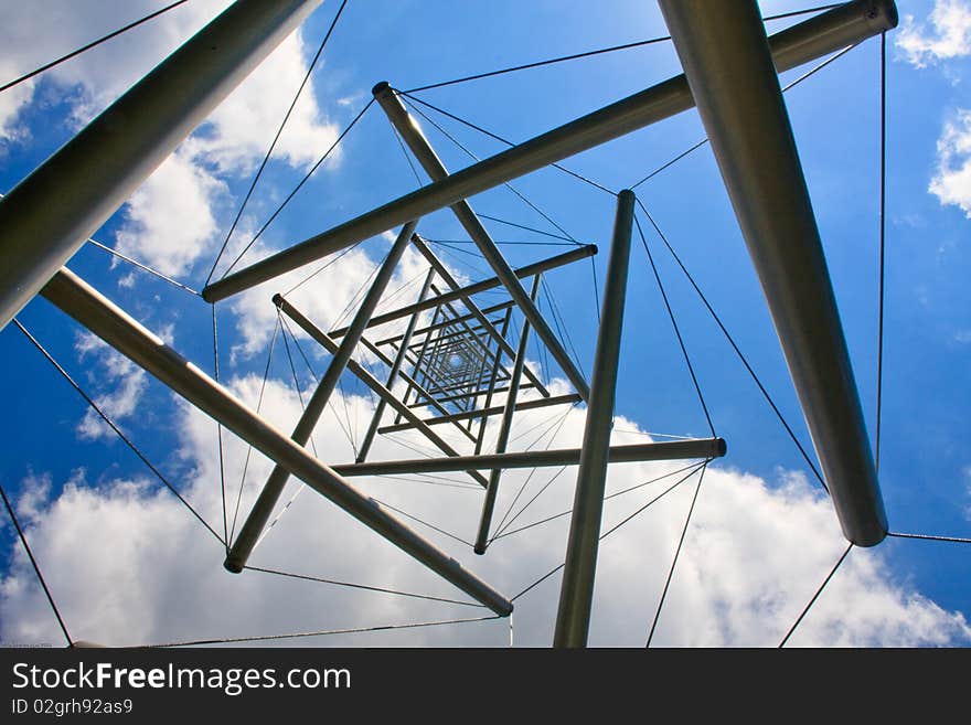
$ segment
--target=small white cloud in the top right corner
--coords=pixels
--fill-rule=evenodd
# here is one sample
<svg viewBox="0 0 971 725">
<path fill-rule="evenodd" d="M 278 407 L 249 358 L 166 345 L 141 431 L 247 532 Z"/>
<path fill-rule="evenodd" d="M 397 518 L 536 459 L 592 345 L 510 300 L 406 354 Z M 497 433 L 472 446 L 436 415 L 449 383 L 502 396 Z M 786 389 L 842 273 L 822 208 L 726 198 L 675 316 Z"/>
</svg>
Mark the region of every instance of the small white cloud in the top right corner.
<svg viewBox="0 0 971 725">
<path fill-rule="evenodd" d="M 971 6 L 963 0 L 937 0 L 927 23 L 906 15 L 897 31 L 897 47 L 922 68 L 930 63 L 971 55 Z"/>
</svg>

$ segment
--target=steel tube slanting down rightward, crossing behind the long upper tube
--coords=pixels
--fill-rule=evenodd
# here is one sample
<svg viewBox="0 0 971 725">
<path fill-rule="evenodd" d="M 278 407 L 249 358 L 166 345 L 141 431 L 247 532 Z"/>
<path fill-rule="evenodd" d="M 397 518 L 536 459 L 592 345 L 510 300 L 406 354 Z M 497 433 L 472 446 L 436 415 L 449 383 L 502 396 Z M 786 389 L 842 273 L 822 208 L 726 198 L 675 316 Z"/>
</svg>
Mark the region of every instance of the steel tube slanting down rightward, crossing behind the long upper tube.
<svg viewBox="0 0 971 725">
<path fill-rule="evenodd" d="M 387 83 L 378 83 L 372 90 L 377 103 L 384 109 L 391 125 L 395 127 L 398 135 L 405 141 L 405 145 L 412 151 L 422 168 L 425 169 L 431 181 L 445 181 L 448 179 L 448 169 L 438 158 L 435 149 L 422 132 L 418 121 L 412 118 L 412 115 L 405 108 L 402 99 L 395 95 Z M 502 256 L 502 252 L 495 246 L 495 242 L 489 236 L 489 232 L 482 226 L 476 212 L 468 201 L 461 199 L 450 205 L 452 213 L 456 215 L 459 224 L 469 234 L 472 242 L 479 249 L 479 253 L 486 259 L 495 276 L 502 280 L 509 296 L 519 305 L 523 314 L 530 321 L 530 324 L 536 331 L 536 337 L 543 341 L 543 344 L 549 350 L 549 354 L 559 364 L 567 380 L 573 383 L 577 393 L 586 401 L 589 397 L 590 390 L 584 374 L 579 371 L 576 363 L 570 359 L 566 349 L 559 343 L 559 340 L 553 333 L 553 328 L 546 322 L 546 319 L 536 308 L 536 303 L 530 299 L 525 288 L 520 284 L 519 277 L 512 270 L 512 267 Z"/>
</svg>

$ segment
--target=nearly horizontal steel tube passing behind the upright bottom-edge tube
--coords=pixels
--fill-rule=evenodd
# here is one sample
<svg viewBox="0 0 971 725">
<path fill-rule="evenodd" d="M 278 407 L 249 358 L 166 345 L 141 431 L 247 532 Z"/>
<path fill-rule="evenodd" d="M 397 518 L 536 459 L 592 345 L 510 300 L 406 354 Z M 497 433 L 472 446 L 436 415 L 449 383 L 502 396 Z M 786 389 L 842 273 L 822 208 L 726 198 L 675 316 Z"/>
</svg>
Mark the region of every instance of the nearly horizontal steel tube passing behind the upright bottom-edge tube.
<svg viewBox="0 0 971 725">
<path fill-rule="evenodd" d="M 727 446 L 722 438 L 701 438 L 697 440 L 663 440 L 659 443 L 612 446 L 605 448 L 611 463 L 642 463 L 659 460 L 694 460 L 698 458 L 719 458 Z M 553 466 L 577 466 L 581 462 L 581 448 L 559 448 L 552 450 L 523 450 L 483 456 L 460 456 L 458 458 L 415 458 L 407 460 L 369 461 L 366 463 L 339 463 L 333 470 L 348 478 L 361 476 L 401 476 L 408 473 L 448 473 L 451 471 L 478 468 L 549 468 Z"/>
</svg>

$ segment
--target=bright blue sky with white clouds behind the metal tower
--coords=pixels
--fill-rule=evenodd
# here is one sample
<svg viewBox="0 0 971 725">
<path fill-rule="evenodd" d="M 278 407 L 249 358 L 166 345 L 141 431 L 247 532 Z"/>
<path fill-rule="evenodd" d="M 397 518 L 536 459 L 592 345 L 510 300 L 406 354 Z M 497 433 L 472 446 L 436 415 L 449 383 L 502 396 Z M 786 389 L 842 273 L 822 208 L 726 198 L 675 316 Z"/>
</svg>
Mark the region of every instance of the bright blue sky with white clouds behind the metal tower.
<svg viewBox="0 0 971 725">
<path fill-rule="evenodd" d="M 161 7 L 157 0 L 0 0 L 0 83 Z M 137 78 L 212 19 L 225 0 L 190 0 L 171 12 L 31 81 L 0 93 L 0 192 L 8 192 Z M 764 15 L 800 10 L 765 1 Z M 887 270 L 881 482 L 894 532 L 968 536 L 971 446 L 971 3 L 903 0 L 887 36 Z M 99 243 L 201 289 L 259 162 L 339 3 L 328 0 L 263 64 L 95 234 Z M 457 9 L 458 8 L 458 9 Z M 797 19 L 798 20 L 798 19 Z M 789 19 L 769 23 L 776 32 Z M 311 82 L 290 116 L 245 207 L 216 278 L 254 238 L 290 190 L 386 79 L 409 89 L 547 57 L 664 35 L 652 3 L 512 0 L 350 0 Z M 798 68 L 783 83 L 812 66 Z M 871 40 L 787 93 L 807 180 L 843 316 L 871 435 L 876 411 L 879 200 L 879 39 Z M 503 138 L 535 136 L 679 72 L 669 43 L 556 64 L 414 95 Z M 502 143 L 418 106 L 429 140 L 451 169 L 469 152 Z M 431 125 L 438 124 L 451 136 Z M 565 164 L 610 190 L 629 186 L 704 138 L 694 111 L 569 159 Z M 246 252 L 245 266 L 426 183 L 412 168 L 380 108 L 371 107 L 284 212 Z M 602 289 L 613 199 L 547 169 L 474 199 L 486 225 L 519 266 L 572 242 L 600 245 L 584 260 L 549 273 L 541 309 L 565 321 L 589 373 L 596 338 L 595 275 Z M 638 186 L 672 246 L 718 310 L 753 367 L 811 451 L 798 401 L 758 280 L 707 147 Z M 845 550 L 832 505 L 805 460 L 734 356 L 697 296 L 641 216 L 659 273 L 718 434 L 729 455 L 698 475 L 683 463 L 612 467 L 604 531 L 627 520 L 600 547 L 590 641 L 643 646 L 695 491 L 697 503 L 658 619 L 653 646 L 756 646 L 780 642 Z M 490 276 L 446 212 L 419 222 L 461 279 Z M 564 233 L 565 231 L 565 233 Z M 522 243 L 531 244 L 506 244 Z M 544 244 L 536 244 L 544 243 Z M 639 243 L 639 241 L 638 241 Z M 328 355 L 278 328 L 270 297 L 286 292 L 322 327 L 348 319 L 358 294 L 388 247 L 386 236 L 317 267 L 290 273 L 216 306 L 221 379 L 247 405 L 289 430 Z M 205 371 L 213 370 L 212 308 L 86 245 L 68 265 Z M 414 299 L 425 266 L 408 253 L 381 309 Z M 499 299 L 483 296 L 484 300 Z M 232 575 L 224 557 L 270 470 L 258 454 L 44 300 L 19 320 L 72 374 L 163 476 L 212 525 L 206 530 L 13 326 L 0 332 L 8 361 L 0 394 L 0 483 L 74 639 L 108 644 L 166 643 L 359 629 L 487 617 L 481 607 L 312 491 L 290 481 L 292 500 L 252 564 Z M 517 322 L 516 322 L 517 323 Z M 394 333 L 393 326 L 380 334 Z M 299 348 L 298 348 L 299 345 Z M 289 350 L 294 366 L 287 355 Z M 306 353 L 305 363 L 300 352 Z M 552 390 L 568 392 L 538 346 L 531 365 Z M 366 362 L 373 361 L 363 358 Z M 374 370 L 381 373 L 380 365 Z M 264 374 L 268 371 L 266 382 Z M 295 384 L 295 376 L 297 379 Z M 353 457 L 374 401 L 351 375 L 313 438 L 331 463 Z M 615 443 L 650 435 L 706 435 L 705 418 L 642 248 L 634 248 Z M 584 413 L 530 412 L 513 430 L 525 447 L 579 445 Z M 494 434 L 494 430 L 493 430 Z M 420 440 L 382 437 L 373 459 L 416 455 Z M 457 444 L 460 445 L 460 444 Z M 245 469 L 245 479 L 244 479 Z M 508 596 L 556 567 L 568 516 L 523 529 L 570 507 L 575 469 L 509 472 L 497 511 L 503 535 L 484 556 L 471 552 L 481 489 L 449 480 L 359 479 L 367 495 L 404 513 L 410 525 Z M 659 477 L 665 476 L 665 478 Z M 225 482 L 223 484 L 223 481 Z M 654 481 L 644 484 L 648 481 Z M 681 481 L 679 483 L 679 481 Z M 242 495 L 238 495 L 242 486 Z M 546 486 L 548 483 L 548 487 Z M 644 486 L 641 486 L 644 484 Z M 675 486 L 676 484 L 676 486 Z M 673 488 L 672 488 L 673 487 Z M 517 500 L 516 493 L 522 491 Z M 542 491 L 542 493 L 540 493 Z M 538 493 L 538 495 L 536 495 Z M 658 498 L 663 494 L 661 498 Z M 533 497 L 535 500 L 525 505 Z M 295 498 L 296 497 L 296 498 Z M 649 508 L 650 501 L 657 499 Z M 431 524 L 434 527 L 428 526 Z M 327 584 L 328 579 L 449 601 Z M 889 539 L 853 550 L 789 641 L 792 646 L 968 646 L 971 551 L 967 545 Z M 514 642 L 552 640 L 559 591 L 553 575 L 515 601 Z M 4 518 L 0 525 L 0 640 L 61 644 L 56 620 Z M 289 643 L 341 646 L 490 646 L 510 642 L 509 620 L 382 630 Z"/>
</svg>

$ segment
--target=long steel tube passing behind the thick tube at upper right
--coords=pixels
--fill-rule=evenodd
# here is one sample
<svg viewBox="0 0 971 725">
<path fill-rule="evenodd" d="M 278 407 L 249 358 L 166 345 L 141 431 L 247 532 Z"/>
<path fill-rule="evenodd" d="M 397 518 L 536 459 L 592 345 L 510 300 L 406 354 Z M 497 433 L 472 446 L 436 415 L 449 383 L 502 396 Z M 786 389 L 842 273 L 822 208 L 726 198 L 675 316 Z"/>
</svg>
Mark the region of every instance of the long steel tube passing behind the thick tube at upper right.
<svg viewBox="0 0 971 725">
<path fill-rule="evenodd" d="M 772 35 L 779 73 L 879 35 L 897 23 L 892 0 L 854 0 Z M 362 239 L 445 209 L 506 181 L 687 110 L 694 105 L 683 75 L 595 110 L 340 226 L 242 269 L 203 290 L 224 299 Z"/>
</svg>

